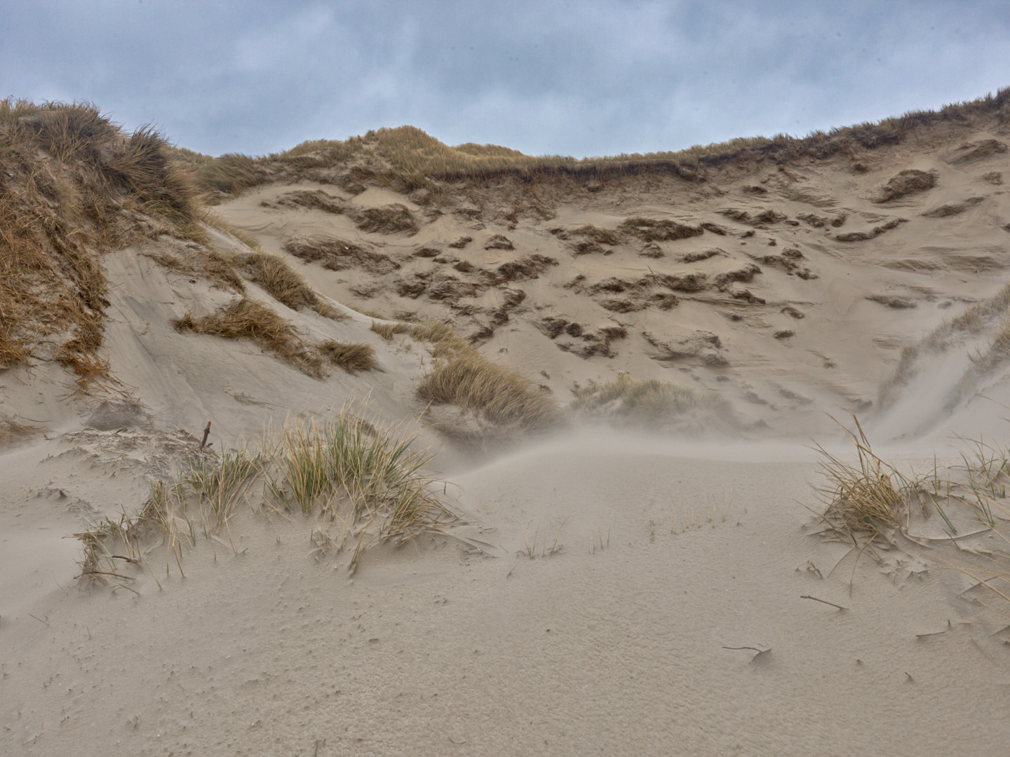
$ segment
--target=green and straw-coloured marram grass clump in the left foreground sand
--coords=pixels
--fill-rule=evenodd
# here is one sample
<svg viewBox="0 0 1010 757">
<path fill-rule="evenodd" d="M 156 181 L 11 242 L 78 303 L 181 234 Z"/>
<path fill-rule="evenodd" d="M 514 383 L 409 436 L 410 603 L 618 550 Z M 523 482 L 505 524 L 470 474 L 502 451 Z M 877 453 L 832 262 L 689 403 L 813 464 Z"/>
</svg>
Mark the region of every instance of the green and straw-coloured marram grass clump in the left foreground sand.
<svg viewBox="0 0 1010 757">
<path fill-rule="evenodd" d="M 84 552 L 79 577 L 134 590 L 122 582 L 132 579 L 125 564 L 147 566 L 153 537 L 166 547 L 166 571 L 175 564 L 184 574 L 183 547 L 195 546 L 201 532 L 211 539 L 223 531 L 230 541 L 229 521 L 243 504 L 254 513 L 267 506 L 315 515 L 316 552 L 339 552 L 350 539 L 355 570 L 370 546 L 403 544 L 456 519 L 425 473 L 433 455 L 415 442 L 416 435 L 377 427 L 344 407 L 323 422 L 267 435 L 259 451 L 230 450 L 218 458 L 194 450 L 174 480 L 152 482 L 136 513 L 106 517 L 75 534 Z"/>
</svg>

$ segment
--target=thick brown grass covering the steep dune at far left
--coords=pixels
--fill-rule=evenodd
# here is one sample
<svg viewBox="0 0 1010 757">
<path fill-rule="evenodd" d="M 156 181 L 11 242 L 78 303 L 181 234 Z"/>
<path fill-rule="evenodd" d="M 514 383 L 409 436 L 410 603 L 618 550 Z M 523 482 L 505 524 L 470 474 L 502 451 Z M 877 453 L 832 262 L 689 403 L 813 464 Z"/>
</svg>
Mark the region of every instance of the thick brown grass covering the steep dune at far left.
<svg viewBox="0 0 1010 757">
<path fill-rule="evenodd" d="M 108 382 L 103 252 L 157 229 L 199 239 L 195 195 L 149 127 L 123 134 L 87 103 L 0 101 L 0 369 L 42 340 L 79 389 Z"/>
</svg>

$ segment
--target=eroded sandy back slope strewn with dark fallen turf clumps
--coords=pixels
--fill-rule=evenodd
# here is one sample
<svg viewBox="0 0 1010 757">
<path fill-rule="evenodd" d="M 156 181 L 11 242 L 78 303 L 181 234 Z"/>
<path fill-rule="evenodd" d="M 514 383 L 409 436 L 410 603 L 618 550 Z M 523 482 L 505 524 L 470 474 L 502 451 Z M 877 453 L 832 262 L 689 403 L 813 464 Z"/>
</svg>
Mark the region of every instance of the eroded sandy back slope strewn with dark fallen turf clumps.
<svg viewBox="0 0 1010 757">
<path fill-rule="evenodd" d="M 334 299 L 448 321 L 562 402 L 628 371 L 716 391 L 743 428 L 809 433 L 867 412 L 902 346 L 1002 286 L 1006 138 L 938 133 L 701 184 L 461 185 L 437 206 L 274 184 L 217 211 Z"/>
</svg>

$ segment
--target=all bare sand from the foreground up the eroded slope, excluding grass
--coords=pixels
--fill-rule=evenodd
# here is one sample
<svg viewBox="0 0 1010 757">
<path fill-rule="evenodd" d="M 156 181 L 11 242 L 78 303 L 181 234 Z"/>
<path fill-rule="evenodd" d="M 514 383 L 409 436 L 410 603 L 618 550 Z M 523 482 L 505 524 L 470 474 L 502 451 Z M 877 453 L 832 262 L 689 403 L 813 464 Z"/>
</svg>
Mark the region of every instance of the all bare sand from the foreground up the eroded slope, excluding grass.
<svg viewBox="0 0 1010 757">
<path fill-rule="evenodd" d="M 430 355 L 387 342 L 372 317 L 284 312 L 313 338 L 377 350 L 381 371 L 317 380 L 247 341 L 173 329 L 232 296 L 143 254 L 164 239 L 105 255 L 103 348 L 142 409 L 99 423 L 97 400 L 68 402 L 54 363 L 0 372 L 0 412 L 47 429 L 0 452 L 0 753 L 1002 753 L 1010 647 L 995 598 L 945 569 L 958 552 L 935 518 L 876 556 L 819 535 L 813 445 L 848 455 L 828 416 L 849 413 L 902 470 L 956 464 L 954 433 L 1005 443 L 1005 367 L 966 356 L 991 330 L 928 342 L 1006 283 L 1010 204 L 994 176 L 1010 153 L 958 152 L 986 139 L 1006 134 L 934 130 L 868 151 L 860 171 L 835 156 L 727 166 L 702 185 L 560 184 L 512 219 L 510 187 L 437 215 L 318 182 L 216 209 L 334 307 L 449 320 L 559 403 L 623 371 L 729 403 L 663 431 L 577 421 L 519 445 L 460 442 L 427 428 L 456 416 L 415 396 Z M 936 186 L 879 202 L 910 169 Z M 419 230 L 367 232 L 352 212 L 281 202 L 318 190 L 355 212 L 402 205 Z M 577 248 L 574 229 L 633 216 L 723 233 Z M 286 251 L 320 234 L 373 256 L 330 271 Z M 217 232 L 212 244 L 238 247 Z M 502 273 L 530 255 L 553 261 Z M 351 574 L 345 553 L 313 552 L 313 517 L 239 508 L 183 551 L 185 577 L 153 539 L 146 565 L 121 563 L 128 588 L 78 587 L 80 544 L 65 537 L 137 508 L 206 421 L 227 449 L 366 398 L 371 418 L 417 420 L 419 444 L 441 450 L 432 472 L 461 525 L 375 546 Z M 716 420 L 720 433 L 699 434 Z"/>
</svg>

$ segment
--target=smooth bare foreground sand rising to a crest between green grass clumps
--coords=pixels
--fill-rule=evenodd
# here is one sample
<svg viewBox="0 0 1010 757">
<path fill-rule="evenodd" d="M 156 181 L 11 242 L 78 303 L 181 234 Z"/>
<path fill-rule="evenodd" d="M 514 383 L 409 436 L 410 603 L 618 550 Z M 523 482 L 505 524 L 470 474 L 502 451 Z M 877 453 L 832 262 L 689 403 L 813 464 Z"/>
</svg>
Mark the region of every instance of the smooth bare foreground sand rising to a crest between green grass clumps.
<svg viewBox="0 0 1010 757">
<path fill-rule="evenodd" d="M 184 580 L 54 589 L 38 620 L 5 619 L 0 742 L 25 755 L 999 753 L 1002 637 L 964 625 L 978 606 L 955 599 L 956 573 L 853 571 L 845 548 L 805 535 L 811 457 L 556 440 L 454 476 L 497 557 L 438 537 L 372 553 L 352 580 L 342 560 L 308 556 L 301 518 L 237 519 L 238 553 L 201 542 Z"/>
</svg>

